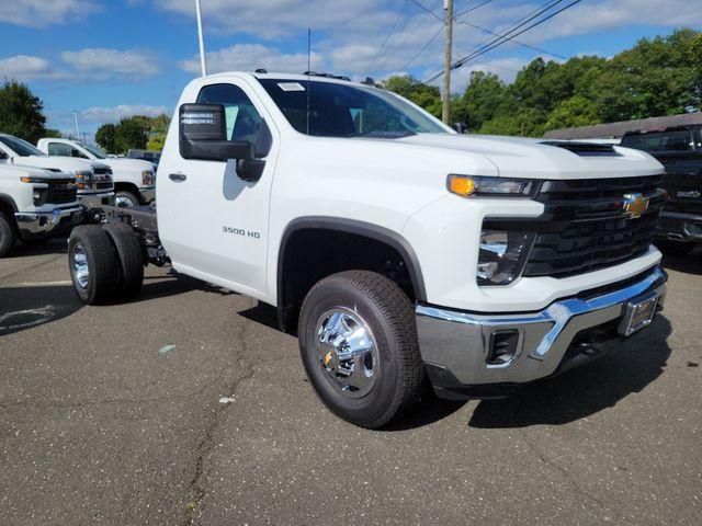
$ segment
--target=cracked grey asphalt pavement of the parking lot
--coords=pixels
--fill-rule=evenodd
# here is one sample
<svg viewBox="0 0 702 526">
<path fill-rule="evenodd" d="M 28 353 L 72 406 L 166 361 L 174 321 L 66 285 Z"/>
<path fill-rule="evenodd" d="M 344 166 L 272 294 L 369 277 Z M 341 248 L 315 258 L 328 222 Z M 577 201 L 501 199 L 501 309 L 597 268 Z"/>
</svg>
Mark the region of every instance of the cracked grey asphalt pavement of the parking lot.
<svg viewBox="0 0 702 526">
<path fill-rule="evenodd" d="M 2 525 L 700 524 L 700 251 L 615 353 L 372 432 L 322 408 L 272 309 L 152 266 L 83 307 L 64 250 L 0 260 Z"/>
</svg>

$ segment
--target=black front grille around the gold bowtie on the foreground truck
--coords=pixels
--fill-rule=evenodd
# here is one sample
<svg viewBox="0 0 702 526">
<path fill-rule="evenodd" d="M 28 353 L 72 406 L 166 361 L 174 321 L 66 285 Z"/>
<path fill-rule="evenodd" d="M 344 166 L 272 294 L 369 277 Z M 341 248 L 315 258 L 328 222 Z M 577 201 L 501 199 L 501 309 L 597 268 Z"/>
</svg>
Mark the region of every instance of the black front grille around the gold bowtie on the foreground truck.
<svg viewBox="0 0 702 526">
<path fill-rule="evenodd" d="M 536 237 L 523 275 L 574 276 L 646 253 L 665 199 L 657 192 L 660 181 L 655 175 L 544 182 L 535 199 L 545 210 L 532 225 Z M 626 216 L 626 194 L 652 197 L 641 217 Z"/>
</svg>

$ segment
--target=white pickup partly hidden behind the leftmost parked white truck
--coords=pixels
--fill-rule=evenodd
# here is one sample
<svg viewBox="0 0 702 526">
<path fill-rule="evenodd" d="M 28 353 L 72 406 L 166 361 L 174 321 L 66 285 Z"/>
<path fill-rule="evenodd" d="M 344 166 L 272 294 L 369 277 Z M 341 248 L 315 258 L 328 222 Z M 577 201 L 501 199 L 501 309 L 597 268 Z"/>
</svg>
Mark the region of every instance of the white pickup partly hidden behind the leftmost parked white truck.
<svg viewBox="0 0 702 526">
<path fill-rule="evenodd" d="M 112 170 L 106 164 L 47 156 L 26 140 L 5 134 L 0 134 L 0 163 L 44 168 L 72 174 L 76 178 L 78 198 L 87 209 L 88 220 L 99 221 L 102 207 L 114 204 Z"/>
</svg>

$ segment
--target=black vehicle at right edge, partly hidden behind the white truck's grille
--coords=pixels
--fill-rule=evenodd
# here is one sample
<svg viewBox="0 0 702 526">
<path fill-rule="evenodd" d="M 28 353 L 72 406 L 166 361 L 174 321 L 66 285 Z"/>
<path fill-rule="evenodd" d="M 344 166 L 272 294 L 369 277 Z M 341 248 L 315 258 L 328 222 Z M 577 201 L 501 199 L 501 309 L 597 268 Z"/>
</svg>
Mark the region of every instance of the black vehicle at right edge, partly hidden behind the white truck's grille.
<svg viewBox="0 0 702 526">
<path fill-rule="evenodd" d="M 702 125 L 627 133 L 622 146 L 644 150 L 666 168 L 668 192 L 656 230 L 656 245 L 687 254 L 702 243 Z"/>
</svg>

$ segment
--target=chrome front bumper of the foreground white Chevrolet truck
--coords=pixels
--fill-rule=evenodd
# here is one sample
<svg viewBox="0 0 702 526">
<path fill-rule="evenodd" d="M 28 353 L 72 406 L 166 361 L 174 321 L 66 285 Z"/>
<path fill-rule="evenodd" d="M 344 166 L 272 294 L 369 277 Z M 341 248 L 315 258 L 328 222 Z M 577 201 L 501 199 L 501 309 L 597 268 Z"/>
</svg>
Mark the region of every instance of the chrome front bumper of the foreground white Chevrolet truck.
<svg viewBox="0 0 702 526">
<path fill-rule="evenodd" d="M 421 356 L 439 388 L 530 382 L 558 369 L 579 332 L 623 318 L 630 300 L 655 291 L 661 306 L 666 281 L 665 272 L 656 267 L 620 289 L 563 299 L 528 313 L 480 315 L 418 305 Z M 518 332 L 517 353 L 505 364 L 490 365 L 491 335 L 506 330 Z"/>
</svg>

